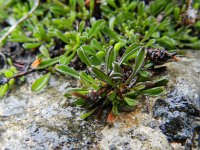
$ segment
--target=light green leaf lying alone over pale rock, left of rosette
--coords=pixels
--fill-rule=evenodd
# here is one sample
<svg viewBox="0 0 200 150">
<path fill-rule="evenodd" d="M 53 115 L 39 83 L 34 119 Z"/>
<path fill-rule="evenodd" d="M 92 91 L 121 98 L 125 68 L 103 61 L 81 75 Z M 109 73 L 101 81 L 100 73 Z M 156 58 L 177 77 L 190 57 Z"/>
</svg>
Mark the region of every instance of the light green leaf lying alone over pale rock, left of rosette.
<svg viewBox="0 0 200 150">
<path fill-rule="evenodd" d="M 50 79 L 50 76 L 51 76 L 51 73 L 47 73 L 46 75 L 35 80 L 35 82 L 31 86 L 31 90 L 36 91 L 36 92 L 41 91 L 47 85 Z"/>
</svg>

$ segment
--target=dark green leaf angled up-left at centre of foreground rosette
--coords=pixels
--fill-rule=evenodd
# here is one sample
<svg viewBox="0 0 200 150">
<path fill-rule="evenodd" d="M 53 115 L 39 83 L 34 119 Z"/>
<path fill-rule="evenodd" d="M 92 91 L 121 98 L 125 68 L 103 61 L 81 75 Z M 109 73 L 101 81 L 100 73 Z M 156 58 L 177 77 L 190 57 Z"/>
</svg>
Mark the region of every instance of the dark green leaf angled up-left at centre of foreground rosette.
<svg viewBox="0 0 200 150">
<path fill-rule="evenodd" d="M 112 80 L 103 71 L 97 69 L 96 67 L 92 67 L 91 71 L 99 80 L 102 80 L 110 85 L 113 85 Z"/>
</svg>

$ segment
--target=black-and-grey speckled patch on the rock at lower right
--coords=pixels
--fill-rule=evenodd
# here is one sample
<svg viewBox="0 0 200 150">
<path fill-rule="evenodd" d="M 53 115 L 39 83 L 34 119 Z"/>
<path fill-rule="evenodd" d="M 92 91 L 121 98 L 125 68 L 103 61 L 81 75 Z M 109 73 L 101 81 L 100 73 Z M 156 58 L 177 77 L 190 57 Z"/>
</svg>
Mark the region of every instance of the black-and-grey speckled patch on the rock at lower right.
<svg viewBox="0 0 200 150">
<path fill-rule="evenodd" d="M 194 142 L 196 134 L 200 136 L 200 109 L 189 99 L 173 97 L 158 100 L 153 113 L 155 118 L 162 119 L 160 129 L 170 142 L 180 142 L 188 146 Z"/>
</svg>

